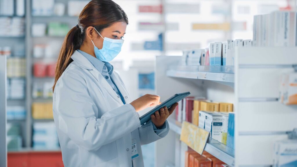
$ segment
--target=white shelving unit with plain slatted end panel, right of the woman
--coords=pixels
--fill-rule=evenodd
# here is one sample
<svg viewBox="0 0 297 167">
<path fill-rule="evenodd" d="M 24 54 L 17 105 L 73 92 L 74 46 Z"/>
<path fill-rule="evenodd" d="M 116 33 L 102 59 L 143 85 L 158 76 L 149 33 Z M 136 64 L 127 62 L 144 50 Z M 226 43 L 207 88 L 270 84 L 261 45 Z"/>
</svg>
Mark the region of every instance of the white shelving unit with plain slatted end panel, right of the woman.
<svg viewBox="0 0 297 167">
<path fill-rule="evenodd" d="M 286 139 L 287 132 L 296 128 L 297 106 L 278 102 L 280 76 L 295 71 L 296 53 L 297 48 L 236 48 L 235 66 L 225 67 L 228 70 L 183 67 L 180 56 L 157 56 L 156 92 L 161 101 L 189 91 L 192 96 L 233 103 L 235 149 L 209 138 L 205 150 L 230 166 L 271 166 L 274 142 Z M 199 73 L 217 77 L 200 78 Z M 232 85 L 225 84 L 222 74 L 232 78 L 227 82 Z M 170 117 L 171 131 L 156 142 L 156 167 L 175 162 L 175 138 L 181 127 L 175 124 L 174 114 Z"/>
</svg>

